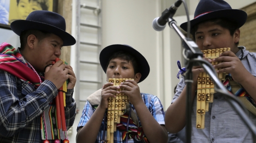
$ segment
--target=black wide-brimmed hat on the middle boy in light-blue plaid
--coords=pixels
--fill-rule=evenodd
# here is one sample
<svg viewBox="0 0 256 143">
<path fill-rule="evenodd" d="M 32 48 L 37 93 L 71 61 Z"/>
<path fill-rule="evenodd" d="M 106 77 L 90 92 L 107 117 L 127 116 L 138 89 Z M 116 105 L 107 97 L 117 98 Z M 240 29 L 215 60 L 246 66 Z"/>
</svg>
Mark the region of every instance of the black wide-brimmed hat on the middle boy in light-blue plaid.
<svg viewBox="0 0 256 143">
<path fill-rule="evenodd" d="M 113 53 L 118 52 L 118 51 L 125 51 L 128 52 L 129 54 L 133 55 L 136 58 L 137 64 L 138 64 L 138 72 L 141 73 L 141 78 L 139 82 L 142 82 L 146 77 L 149 75 L 149 63 L 145 59 L 143 55 L 141 55 L 136 49 L 132 48 L 129 45 L 122 45 L 122 44 L 113 44 L 109 45 L 106 48 L 101 50 L 100 54 L 100 63 L 103 71 L 107 71 L 106 67 L 108 64 L 109 58 L 113 55 Z M 138 83 L 139 83 L 138 82 Z"/>
</svg>

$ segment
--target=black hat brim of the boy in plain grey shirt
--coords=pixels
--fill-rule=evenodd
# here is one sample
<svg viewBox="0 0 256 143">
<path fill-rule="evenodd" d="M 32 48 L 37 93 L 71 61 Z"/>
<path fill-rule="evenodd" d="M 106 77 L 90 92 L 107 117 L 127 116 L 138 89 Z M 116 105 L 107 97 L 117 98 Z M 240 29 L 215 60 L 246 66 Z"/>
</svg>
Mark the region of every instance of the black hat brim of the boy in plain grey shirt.
<svg viewBox="0 0 256 143">
<path fill-rule="evenodd" d="M 197 17 L 190 21 L 191 28 L 193 28 L 197 23 L 203 22 L 205 20 L 214 19 L 214 18 L 228 18 L 232 19 L 233 21 L 237 22 L 238 28 L 242 27 L 247 19 L 247 13 L 242 10 L 236 9 L 225 9 L 225 10 L 218 10 L 209 12 L 201 17 Z M 180 28 L 187 32 L 187 23 L 184 22 L 180 25 Z"/>
</svg>

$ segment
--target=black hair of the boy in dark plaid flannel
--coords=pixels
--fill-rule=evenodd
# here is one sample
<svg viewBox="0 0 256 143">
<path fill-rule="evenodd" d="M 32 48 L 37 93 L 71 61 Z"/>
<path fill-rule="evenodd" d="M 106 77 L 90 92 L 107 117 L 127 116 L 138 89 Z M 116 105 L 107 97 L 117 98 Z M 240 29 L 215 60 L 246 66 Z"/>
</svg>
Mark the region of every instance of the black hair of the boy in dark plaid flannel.
<svg viewBox="0 0 256 143">
<path fill-rule="evenodd" d="M 25 45 L 27 44 L 27 39 L 31 34 L 35 35 L 36 38 L 41 41 L 42 39 L 50 36 L 51 33 L 42 30 L 25 30 L 21 32 L 19 36 L 21 50 L 24 49 Z"/>
</svg>

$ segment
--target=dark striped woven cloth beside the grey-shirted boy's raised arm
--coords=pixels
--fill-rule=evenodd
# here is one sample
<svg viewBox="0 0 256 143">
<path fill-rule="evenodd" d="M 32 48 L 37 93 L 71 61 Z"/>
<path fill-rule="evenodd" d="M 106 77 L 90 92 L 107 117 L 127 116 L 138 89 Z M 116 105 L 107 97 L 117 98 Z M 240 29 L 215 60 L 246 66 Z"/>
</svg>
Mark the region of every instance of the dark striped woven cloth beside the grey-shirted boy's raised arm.
<svg viewBox="0 0 256 143">
<path fill-rule="evenodd" d="M 223 82 L 223 85 L 226 87 L 226 89 L 232 93 L 232 87 L 230 86 L 229 84 L 229 81 L 233 80 L 231 74 L 229 73 L 228 75 L 226 75 L 226 78 Z M 239 97 L 246 97 L 246 99 L 248 101 L 250 101 L 250 103 L 256 107 L 256 103 L 255 101 L 250 97 L 250 95 L 248 93 L 246 93 L 245 89 L 244 88 L 239 88 L 238 91 L 236 91 L 236 93 L 232 93 L 234 94 L 235 96 L 239 96 Z"/>
</svg>

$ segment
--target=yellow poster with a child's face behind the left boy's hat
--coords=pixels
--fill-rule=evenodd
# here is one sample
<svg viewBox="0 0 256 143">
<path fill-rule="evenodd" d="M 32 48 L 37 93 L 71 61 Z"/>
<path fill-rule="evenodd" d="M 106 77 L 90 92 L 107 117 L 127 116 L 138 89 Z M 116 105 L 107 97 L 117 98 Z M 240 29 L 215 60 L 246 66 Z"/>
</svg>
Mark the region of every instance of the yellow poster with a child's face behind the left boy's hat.
<svg viewBox="0 0 256 143">
<path fill-rule="evenodd" d="M 10 29 L 15 20 L 25 20 L 32 11 L 56 12 L 57 0 L 0 0 L 0 28 Z"/>
</svg>

